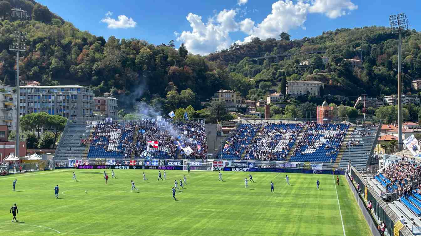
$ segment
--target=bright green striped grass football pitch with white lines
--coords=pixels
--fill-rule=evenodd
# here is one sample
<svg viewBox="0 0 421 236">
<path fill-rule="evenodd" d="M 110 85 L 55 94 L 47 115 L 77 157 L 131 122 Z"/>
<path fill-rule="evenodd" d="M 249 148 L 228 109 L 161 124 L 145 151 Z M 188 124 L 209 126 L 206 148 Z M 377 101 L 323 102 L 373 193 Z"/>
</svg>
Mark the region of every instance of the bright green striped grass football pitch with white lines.
<svg viewBox="0 0 421 236">
<path fill-rule="evenodd" d="M 252 172 L 256 183 L 244 189 L 246 172 L 223 172 L 221 182 L 216 171 L 168 170 L 166 181 L 158 170 L 106 171 L 107 185 L 101 170 L 75 170 L 78 182 L 73 169 L 0 177 L 0 235 L 371 235 L 344 176 L 335 186 L 332 175 Z M 14 203 L 20 223 L 11 222 Z"/>
</svg>

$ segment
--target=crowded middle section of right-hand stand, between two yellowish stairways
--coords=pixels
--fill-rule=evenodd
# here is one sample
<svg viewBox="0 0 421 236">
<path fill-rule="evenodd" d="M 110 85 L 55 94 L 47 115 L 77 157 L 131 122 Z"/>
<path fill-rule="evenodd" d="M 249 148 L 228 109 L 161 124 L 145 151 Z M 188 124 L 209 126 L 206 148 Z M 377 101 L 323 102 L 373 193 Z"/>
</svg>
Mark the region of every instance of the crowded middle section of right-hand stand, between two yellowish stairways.
<svg viewBox="0 0 421 236">
<path fill-rule="evenodd" d="M 246 147 L 247 160 L 285 160 L 304 124 L 269 124 Z"/>
</svg>

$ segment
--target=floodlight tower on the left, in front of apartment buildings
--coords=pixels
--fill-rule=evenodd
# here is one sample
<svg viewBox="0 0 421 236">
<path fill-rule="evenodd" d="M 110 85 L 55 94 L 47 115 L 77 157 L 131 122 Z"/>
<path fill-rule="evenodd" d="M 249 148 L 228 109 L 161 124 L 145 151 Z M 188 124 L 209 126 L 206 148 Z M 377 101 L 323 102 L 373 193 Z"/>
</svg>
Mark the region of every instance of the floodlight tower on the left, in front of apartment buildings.
<svg viewBox="0 0 421 236">
<path fill-rule="evenodd" d="M 16 51 L 16 140 L 15 140 L 15 156 L 19 157 L 19 118 L 20 118 L 20 91 L 19 91 L 19 52 L 26 51 L 26 35 L 25 32 L 14 31 L 13 43 L 9 45 L 9 50 Z"/>
</svg>

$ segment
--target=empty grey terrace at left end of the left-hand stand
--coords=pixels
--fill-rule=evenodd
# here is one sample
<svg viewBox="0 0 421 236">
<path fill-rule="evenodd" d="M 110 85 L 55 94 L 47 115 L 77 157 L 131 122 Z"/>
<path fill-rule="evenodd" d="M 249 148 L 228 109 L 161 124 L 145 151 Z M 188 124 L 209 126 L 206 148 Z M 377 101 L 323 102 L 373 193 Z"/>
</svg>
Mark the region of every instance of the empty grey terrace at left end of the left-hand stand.
<svg viewBox="0 0 421 236">
<path fill-rule="evenodd" d="M 80 145 L 80 137 L 83 134 L 85 134 L 85 137 L 90 136 L 93 126 L 69 121 L 64 128 L 59 145 L 57 145 L 56 152 L 54 153 L 55 159 L 67 160 L 69 157 L 86 157 L 83 156 L 86 146 Z"/>
</svg>

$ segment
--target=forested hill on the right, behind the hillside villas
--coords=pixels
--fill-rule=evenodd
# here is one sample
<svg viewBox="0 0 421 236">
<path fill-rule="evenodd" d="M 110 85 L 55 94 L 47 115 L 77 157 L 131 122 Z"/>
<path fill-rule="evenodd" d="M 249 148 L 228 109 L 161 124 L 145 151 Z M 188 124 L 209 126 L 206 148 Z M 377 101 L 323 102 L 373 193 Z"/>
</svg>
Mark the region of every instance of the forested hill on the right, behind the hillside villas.
<svg viewBox="0 0 421 236">
<path fill-rule="evenodd" d="M 407 32 L 402 42 L 402 73 L 404 92 L 410 89 L 410 81 L 421 77 L 421 34 L 415 30 Z M 323 65 L 320 55 L 299 53 L 279 63 L 265 61 L 262 66 L 243 60 L 282 53 L 325 50 L 329 63 Z M 301 40 L 275 40 L 258 38 L 245 45 L 232 45 L 227 50 L 211 53 L 207 60 L 228 66 L 229 72 L 242 74 L 261 82 L 288 80 L 317 80 L 327 85 L 325 93 L 359 96 L 369 94 L 394 94 L 397 92 L 397 35 L 386 27 L 363 27 L 336 29 L 323 32 L 317 37 Z M 321 55 L 323 56 L 323 55 Z M 362 66 L 350 67 L 343 59 L 361 59 Z M 248 59 L 248 58 L 246 58 Z M 310 59 L 310 66 L 299 66 L 302 60 Z M 326 72 L 312 75 L 314 70 Z M 261 91 L 260 91 L 261 92 Z M 251 94 L 250 94 L 251 95 Z M 250 96 L 256 97 L 256 96 Z M 258 96 L 257 96 L 258 97 Z"/>
</svg>

